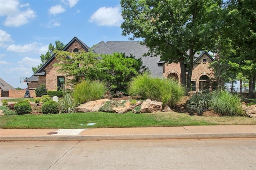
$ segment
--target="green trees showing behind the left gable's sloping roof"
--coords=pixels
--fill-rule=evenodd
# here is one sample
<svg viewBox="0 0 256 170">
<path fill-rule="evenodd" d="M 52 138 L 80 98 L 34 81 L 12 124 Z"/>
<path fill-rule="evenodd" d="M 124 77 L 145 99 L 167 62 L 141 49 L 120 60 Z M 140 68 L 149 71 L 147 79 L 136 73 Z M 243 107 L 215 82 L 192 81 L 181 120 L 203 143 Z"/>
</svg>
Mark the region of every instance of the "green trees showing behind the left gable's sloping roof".
<svg viewBox="0 0 256 170">
<path fill-rule="evenodd" d="M 44 64 L 46 63 L 46 61 L 48 61 L 48 59 L 50 59 L 53 55 L 53 51 L 54 50 L 62 50 L 66 45 L 64 45 L 64 43 L 60 42 L 60 41 L 55 41 L 55 45 L 52 45 L 52 43 L 49 44 L 48 46 L 48 51 L 46 52 L 46 54 L 41 54 L 40 55 L 40 59 L 41 59 L 41 64 L 39 64 L 38 66 L 32 66 L 32 71 L 34 73 L 37 72 L 37 70 Z"/>
</svg>

